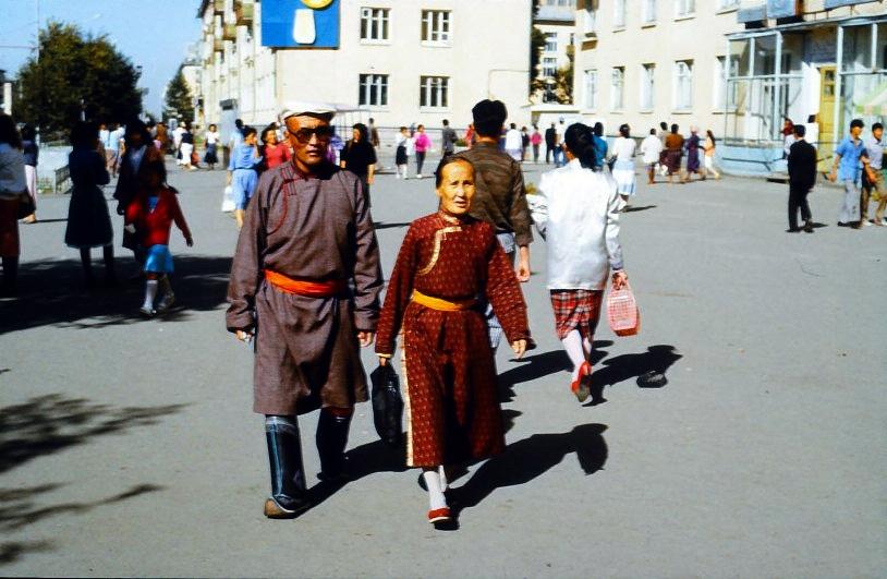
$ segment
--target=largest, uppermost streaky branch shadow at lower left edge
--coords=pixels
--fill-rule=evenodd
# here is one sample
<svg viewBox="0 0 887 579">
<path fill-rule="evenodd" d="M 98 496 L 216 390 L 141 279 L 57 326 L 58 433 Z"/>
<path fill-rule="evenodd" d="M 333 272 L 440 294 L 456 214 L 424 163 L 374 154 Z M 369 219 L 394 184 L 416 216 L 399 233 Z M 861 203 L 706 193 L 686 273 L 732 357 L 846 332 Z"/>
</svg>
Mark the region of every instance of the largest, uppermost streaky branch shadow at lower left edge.
<svg viewBox="0 0 887 579">
<path fill-rule="evenodd" d="M 186 406 L 114 408 L 52 394 L 0 408 L 0 473 L 95 436 L 157 424 Z"/>
</svg>

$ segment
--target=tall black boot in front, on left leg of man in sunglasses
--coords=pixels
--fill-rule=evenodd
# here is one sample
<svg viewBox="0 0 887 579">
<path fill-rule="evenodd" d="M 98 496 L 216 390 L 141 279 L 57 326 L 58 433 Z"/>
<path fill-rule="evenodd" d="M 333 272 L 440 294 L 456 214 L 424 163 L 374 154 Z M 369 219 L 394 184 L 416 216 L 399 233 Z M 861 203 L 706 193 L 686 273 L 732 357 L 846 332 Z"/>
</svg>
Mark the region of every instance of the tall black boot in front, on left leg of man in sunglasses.
<svg viewBox="0 0 887 579">
<path fill-rule="evenodd" d="M 311 507 L 295 418 L 266 419 L 265 438 L 271 468 L 271 497 L 265 502 L 265 516 L 269 519 L 292 519 Z"/>
</svg>

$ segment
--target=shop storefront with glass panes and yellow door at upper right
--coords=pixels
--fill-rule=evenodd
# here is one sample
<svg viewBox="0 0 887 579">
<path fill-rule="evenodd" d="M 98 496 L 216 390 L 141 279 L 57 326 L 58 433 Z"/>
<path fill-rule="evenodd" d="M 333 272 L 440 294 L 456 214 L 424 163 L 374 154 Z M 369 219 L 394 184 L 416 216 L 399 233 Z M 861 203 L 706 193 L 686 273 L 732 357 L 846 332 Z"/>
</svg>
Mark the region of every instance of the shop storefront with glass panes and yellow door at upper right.
<svg viewBox="0 0 887 579">
<path fill-rule="evenodd" d="M 781 157 L 788 118 L 807 126 L 827 164 L 852 119 L 868 126 L 887 111 L 887 14 L 794 22 L 727 38 L 724 135 L 731 145 Z"/>
</svg>

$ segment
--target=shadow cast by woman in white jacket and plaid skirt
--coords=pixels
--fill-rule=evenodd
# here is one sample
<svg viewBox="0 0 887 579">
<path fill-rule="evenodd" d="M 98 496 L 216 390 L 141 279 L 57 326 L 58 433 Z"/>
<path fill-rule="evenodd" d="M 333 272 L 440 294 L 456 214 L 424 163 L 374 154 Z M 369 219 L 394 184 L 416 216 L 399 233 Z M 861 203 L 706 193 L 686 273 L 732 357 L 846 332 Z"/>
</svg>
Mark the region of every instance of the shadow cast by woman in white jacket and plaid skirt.
<svg viewBox="0 0 887 579">
<path fill-rule="evenodd" d="M 668 383 L 666 372 L 681 358 L 673 346 L 659 343 L 647 347 L 646 352 L 604 360 L 604 367 L 592 373 L 592 401 L 585 406 L 606 402 L 604 388 L 634 377 L 641 388 L 661 388 Z"/>
</svg>

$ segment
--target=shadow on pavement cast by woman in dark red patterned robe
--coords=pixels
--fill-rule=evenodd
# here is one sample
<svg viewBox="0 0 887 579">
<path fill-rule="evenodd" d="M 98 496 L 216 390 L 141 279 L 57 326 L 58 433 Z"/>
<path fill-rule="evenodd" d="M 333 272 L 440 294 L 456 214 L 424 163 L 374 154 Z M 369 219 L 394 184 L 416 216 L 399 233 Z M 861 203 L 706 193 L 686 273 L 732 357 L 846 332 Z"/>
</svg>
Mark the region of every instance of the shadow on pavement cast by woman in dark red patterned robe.
<svg viewBox="0 0 887 579">
<path fill-rule="evenodd" d="M 508 445 L 506 451 L 487 460 L 469 481 L 452 488 L 451 508 L 461 510 L 481 504 L 502 486 L 526 484 L 575 453 L 583 472 L 593 474 L 607 462 L 605 424 L 581 424 L 570 432 L 534 434 Z"/>
</svg>

